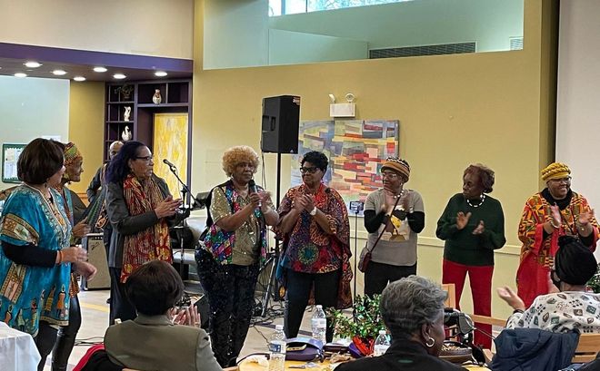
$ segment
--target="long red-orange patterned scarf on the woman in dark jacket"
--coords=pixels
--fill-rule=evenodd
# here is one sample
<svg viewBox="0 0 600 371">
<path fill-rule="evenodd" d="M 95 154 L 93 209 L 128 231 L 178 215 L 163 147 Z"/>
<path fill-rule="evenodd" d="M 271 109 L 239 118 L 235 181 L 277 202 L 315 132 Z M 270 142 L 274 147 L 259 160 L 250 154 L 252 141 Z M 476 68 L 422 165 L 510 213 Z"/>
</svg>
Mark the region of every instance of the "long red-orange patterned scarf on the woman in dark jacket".
<svg viewBox="0 0 600 371">
<path fill-rule="evenodd" d="M 123 181 L 123 195 L 131 216 L 155 210 L 165 199 L 154 177 L 140 182 L 133 174 L 127 175 Z M 125 236 L 121 282 L 148 261 L 165 260 L 170 263 L 173 256 L 169 242 L 169 229 L 164 219 L 150 228 Z"/>
</svg>

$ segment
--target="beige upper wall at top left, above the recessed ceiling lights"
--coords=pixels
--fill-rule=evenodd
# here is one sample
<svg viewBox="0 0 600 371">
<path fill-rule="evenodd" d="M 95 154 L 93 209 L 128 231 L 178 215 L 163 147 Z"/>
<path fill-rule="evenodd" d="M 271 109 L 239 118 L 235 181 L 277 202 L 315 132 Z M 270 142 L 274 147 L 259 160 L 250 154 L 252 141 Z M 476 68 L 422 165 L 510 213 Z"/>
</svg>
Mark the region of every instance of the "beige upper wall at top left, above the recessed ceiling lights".
<svg viewBox="0 0 600 371">
<path fill-rule="evenodd" d="M 0 41 L 192 57 L 194 0 L 0 0 Z"/>
</svg>

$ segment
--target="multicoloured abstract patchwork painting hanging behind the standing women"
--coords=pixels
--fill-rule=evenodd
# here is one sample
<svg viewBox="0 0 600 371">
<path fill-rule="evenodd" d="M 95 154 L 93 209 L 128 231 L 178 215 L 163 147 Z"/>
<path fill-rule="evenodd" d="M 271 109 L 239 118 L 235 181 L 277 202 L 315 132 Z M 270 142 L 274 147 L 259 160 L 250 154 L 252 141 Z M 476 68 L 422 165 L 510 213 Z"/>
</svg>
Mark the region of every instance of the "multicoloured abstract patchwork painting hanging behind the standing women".
<svg viewBox="0 0 600 371">
<path fill-rule="evenodd" d="M 352 200 L 381 187 L 381 165 L 399 152 L 397 120 L 338 120 L 300 122 L 298 154 L 292 161 L 292 186 L 302 183 L 300 160 L 308 151 L 329 159 L 323 181 L 337 190 L 346 207 Z"/>
</svg>

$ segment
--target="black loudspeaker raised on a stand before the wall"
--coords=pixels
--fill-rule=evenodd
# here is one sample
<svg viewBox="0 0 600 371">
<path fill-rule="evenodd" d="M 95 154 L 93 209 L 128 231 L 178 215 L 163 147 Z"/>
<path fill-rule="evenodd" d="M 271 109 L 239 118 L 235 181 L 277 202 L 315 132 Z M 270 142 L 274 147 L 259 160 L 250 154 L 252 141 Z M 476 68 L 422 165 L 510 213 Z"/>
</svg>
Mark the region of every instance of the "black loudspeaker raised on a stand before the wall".
<svg viewBox="0 0 600 371">
<path fill-rule="evenodd" d="M 261 150 L 275 153 L 298 152 L 300 97 L 281 95 L 263 99 Z"/>
</svg>

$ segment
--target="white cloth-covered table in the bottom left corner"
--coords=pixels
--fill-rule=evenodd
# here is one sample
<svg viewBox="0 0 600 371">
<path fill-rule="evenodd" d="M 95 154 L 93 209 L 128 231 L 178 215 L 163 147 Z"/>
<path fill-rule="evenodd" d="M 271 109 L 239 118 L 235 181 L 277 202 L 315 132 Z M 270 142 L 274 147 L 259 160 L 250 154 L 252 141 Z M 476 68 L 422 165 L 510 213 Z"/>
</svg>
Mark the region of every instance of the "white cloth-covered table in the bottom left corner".
<svg viewBox="0 0 600 371">
<path fill-rule="evenodd" d="M 37 369 L 42 357 L 34 338 L 25 332 L 0 322 L 0 365 L 2 371 L 31 371 Z"/>
</svg>

